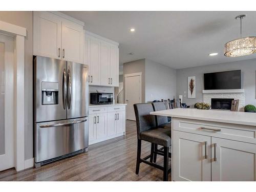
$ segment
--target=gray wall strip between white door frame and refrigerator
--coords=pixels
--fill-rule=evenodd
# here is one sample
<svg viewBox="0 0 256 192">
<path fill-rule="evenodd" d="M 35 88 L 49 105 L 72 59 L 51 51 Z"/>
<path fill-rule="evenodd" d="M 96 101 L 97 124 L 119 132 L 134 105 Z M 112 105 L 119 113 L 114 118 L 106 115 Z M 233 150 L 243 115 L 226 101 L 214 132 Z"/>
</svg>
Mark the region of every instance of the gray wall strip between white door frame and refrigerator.
<svg viewBox="0 0 256 192">
<path fill-rule="evenodd" d="M 0 20 L 27 29 L 25 38 L 25 159 L 33 158 L 33 12 L 0 11 Z"/>
</svg>

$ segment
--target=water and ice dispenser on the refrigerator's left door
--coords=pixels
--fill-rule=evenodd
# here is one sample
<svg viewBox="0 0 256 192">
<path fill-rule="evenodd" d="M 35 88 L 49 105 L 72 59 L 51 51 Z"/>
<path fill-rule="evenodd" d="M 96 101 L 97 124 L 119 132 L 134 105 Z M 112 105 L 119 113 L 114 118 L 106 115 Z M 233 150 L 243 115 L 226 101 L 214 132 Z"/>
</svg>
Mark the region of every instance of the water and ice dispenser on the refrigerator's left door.
<svg viewBox="0 0 256 192">
<path fill-rule="evenodd" d="M 58 104 L 59 83 L 42 81 L 42 105 Z"/>
</svg>

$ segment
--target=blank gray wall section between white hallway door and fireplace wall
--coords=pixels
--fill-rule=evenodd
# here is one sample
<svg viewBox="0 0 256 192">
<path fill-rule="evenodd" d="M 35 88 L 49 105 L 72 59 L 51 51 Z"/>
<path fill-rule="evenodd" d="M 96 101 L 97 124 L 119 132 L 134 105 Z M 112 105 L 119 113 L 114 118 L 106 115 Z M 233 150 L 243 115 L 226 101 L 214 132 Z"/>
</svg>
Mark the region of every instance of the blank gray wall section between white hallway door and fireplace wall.
<svg viewBox="0 0 256 192">
<path fill-rule="evenodd" d="M 176 69 L 146 59 L 145 101 L 176 97 Z"/>
</svg>

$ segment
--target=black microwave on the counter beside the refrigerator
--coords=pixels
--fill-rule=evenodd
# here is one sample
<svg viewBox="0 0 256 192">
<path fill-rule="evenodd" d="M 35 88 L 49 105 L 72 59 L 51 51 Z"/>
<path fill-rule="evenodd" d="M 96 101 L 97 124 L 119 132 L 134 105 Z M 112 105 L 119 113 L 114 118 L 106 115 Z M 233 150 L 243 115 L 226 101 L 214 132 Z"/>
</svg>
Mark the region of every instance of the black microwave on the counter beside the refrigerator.
<svg viewBox="0 0 256 192">
<path fill-rule="evenodd" d="M 91 104 L 113 104 L 113 93 L 91 93 Z"/>
</svg>

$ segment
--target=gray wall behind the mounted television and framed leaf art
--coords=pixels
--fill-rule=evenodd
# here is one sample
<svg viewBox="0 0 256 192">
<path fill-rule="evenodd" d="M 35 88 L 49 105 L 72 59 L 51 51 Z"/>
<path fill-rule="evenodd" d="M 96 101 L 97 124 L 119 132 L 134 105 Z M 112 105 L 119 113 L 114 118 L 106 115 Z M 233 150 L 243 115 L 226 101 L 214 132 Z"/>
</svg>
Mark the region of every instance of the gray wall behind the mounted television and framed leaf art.
<svg viewBox="0 0 256 192">
<path fill-rule="evenodd" d="M 231 58 L 230 58 L 231 59 Z M 203 101 L 202 90 L 204 89 L 203 74 L 210 72 L 241 70 L 241 88 L 245 89 L 245 104 L 256 105 L 255 99 L 255 70 L 256 59 L 221 63 L 194 68 L 177 70 L 177 97 L 183 95 L 183 102 L 188 105 Z M 196 98 L 187 98 L 187 77 L 196 76 Z"/>
</svg>

